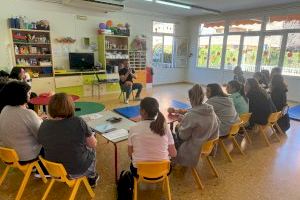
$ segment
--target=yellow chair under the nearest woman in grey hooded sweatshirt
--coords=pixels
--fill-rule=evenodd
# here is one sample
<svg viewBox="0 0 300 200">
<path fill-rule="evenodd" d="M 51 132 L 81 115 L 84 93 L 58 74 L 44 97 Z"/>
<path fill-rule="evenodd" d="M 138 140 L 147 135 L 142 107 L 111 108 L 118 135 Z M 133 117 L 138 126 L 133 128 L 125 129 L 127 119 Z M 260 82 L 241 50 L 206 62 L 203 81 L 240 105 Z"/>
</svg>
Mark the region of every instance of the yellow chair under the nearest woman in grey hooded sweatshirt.
<svg viewBox="0 0 300 200">
<path fill-rule="evenodd" d="M 209 166 L 211 167 L 211 169 L 212 169 L 212 171 L 213 171 L 213 173 L 216 177 L 219 177 L 219 173 L 218 173 L 217 169 L 215 168 L 215 166 L 214 166 L 212 160 L 210 159 L 209 155 L 210 155 L 211 151 L 213 150 L 214 146 L 218 143 L 218 140 L 219 140 L 219 138 L 216 138 L 216 139 L 209 140 L 206 143 L 204 143 L 202 145 L 201 154 L 200 154 L 200 159 L 201 159 L 202 156 L 204 156 L 206 158 Z M 192 168 L 192 172 L 193 172 L 194 179 L 197 182 L 199 188 L 203 189 L 204 186 L 201 182 L 201 179 L 200 179 L 199 174 L 196 170 L 196 167 Z"/>
</svg>

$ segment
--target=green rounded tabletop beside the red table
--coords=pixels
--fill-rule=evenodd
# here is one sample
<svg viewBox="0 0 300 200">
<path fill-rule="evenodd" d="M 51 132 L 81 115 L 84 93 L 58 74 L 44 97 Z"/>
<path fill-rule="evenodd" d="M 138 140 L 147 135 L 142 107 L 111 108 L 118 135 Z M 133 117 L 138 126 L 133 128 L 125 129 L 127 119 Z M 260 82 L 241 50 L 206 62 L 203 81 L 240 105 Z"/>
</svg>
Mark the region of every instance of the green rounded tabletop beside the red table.
<svg viewBox="0 0 300 200">
<path fill-rule="evenodd" d="M 76 111 L 75 115 L 81 116 L 101 112 L 105 109 L 105 106 L 95 102 L 75 102 L 75 108 L 80 108 L 80 111 Z"/>
</svg>

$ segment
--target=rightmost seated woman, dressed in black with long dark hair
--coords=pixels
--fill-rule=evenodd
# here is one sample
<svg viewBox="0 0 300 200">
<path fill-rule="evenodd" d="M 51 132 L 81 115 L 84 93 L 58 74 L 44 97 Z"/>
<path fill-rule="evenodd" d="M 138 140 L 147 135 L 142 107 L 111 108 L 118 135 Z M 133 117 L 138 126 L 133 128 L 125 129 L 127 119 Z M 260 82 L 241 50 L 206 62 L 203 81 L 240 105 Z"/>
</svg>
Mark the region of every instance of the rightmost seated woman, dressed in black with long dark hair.
<svg viewBox="0 0 300 200">
<path fill-rule="evenodd" d="M 270 85 L 270 93 L 277 111 L 283 111 L 288 105 L 286 97 L 287 92 L 288 89 L 283 80 L 283 76 L 280 74 L 273 75 Z M 278 120 L 278 125 L 283 131 L 287 131 L 290 128 L 290 118 L 288 113 L 285 113 L 285 115 Z"/>
</svg>

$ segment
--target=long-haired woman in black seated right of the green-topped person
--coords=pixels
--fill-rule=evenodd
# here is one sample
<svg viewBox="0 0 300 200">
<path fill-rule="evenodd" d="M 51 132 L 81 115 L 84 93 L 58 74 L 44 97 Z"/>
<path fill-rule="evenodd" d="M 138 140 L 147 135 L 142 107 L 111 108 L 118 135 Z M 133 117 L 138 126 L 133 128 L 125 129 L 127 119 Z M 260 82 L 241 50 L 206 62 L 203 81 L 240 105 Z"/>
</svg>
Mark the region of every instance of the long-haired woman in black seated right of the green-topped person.
<svg viewBox="0 0 300 200">
<path fill-rule="evenodd" d="M 245 93 L 249 99 L 249 112 L 252 113 L 250 126 L 267 124 L 269 115 L 276 111 L 271 98 L 254 78 L 247 79 Z"/>
</svg>

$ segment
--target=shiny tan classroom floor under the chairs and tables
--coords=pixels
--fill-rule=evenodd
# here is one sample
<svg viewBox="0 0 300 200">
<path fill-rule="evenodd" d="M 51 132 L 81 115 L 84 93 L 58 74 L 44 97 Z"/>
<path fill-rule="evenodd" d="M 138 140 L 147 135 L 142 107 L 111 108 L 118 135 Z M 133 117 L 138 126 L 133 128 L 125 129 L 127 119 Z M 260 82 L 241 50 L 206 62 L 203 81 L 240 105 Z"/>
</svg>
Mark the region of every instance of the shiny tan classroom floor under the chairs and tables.
<svg viewBox="0 0 300 200">
<path fill-rule="evenodd" d="M 189 84 L 174 84 L 158 86 L 144 91 L 143 96 L 149 95 L 159 99 L 160 103 L 169 99 L 187 101 Z M 86 98 L 81 100 L 99 101 L 112 109 L 124 106 L 118 100 L 118 94 L 107 95 L 100 99 Z M 132 104 L 132 103 L 131 103 Z M 242 140 L 245 156 L 236 150 L 232 152 L 233 163 L 228 162 L 222 151 L 218 151 L 213 162 L 220 174 L 215 178 L 206 162 L 200 162 L 198 172 L 205 185 L 199 190 L 188 169 L 175 167 L 170 175 L 172 199 L 174 200 L 299 200 L 300 199 L 300 123 L 291 121 L 291 128 L 286 136 L 281 136 L 281 143 L 272 138 L 271 147 L 267 147 L 258 134 L 251 135 L 253 144 Z M 113 173 L 113 145 L 106 144 L 99 138 L 97 148 L 97 169 L 101 180 L 95 189 L 97 200 L 116 199 L 116 185 Z M 120 143 L 119 170 L 129 168 L 127 142 Z M 220 149 L 219 149 L 220 150 Z M 0 173 L 3 165 L 0 164 Z M 12 171 L 0 187 L 0 200 L 14 199 L 21 181 L 22 174 Z M 31 177 L 22 199 L 41 199 L 46 185 L 39 179 Z M 68 199 L 70 190 L 66 185 L 56 183 L 48 199 Z M 76 199 L 89 199 L 83 187 L 80 188 Z M 139 197 L 141 200 L 166 199 L 161 191 L 161 185 L 141 185 Z"/>
</svg>

